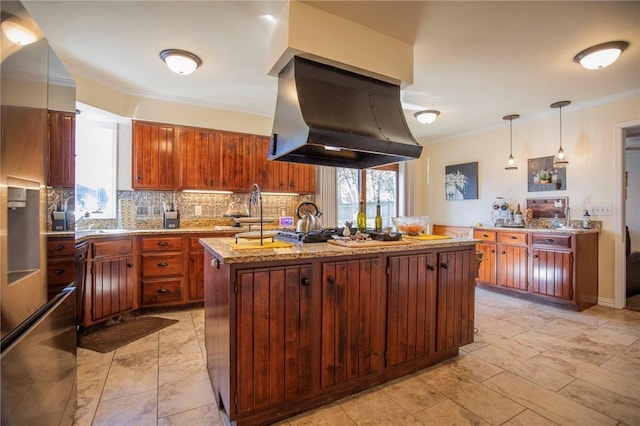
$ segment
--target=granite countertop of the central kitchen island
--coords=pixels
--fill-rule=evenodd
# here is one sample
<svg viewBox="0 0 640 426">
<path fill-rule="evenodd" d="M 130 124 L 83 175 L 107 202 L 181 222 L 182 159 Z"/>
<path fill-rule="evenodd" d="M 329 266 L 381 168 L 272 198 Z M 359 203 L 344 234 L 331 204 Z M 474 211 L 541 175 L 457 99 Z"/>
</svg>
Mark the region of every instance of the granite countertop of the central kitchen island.
<svg viewBox="0 0 640 426">
<path fill-rule="evenodd" d="M 329 243 L 295 244 L 290 247 L 256 248 L 234 250 L 232 243 L 221 238 L 201 238 L 200 244 L 214 252 L 224 263 L 253 263 L 274 260 L 296 260 L 317 257 L 340 257 L 353 254 L 389 253 L 409 250 L 427 250 L 433 248 L 458 247 L 476 244 L 481 240 L 472 238 L 451 238 L 431 241 L 410 241 L 406 245 L 378 247 L 343 247 Z"/>
</svg>

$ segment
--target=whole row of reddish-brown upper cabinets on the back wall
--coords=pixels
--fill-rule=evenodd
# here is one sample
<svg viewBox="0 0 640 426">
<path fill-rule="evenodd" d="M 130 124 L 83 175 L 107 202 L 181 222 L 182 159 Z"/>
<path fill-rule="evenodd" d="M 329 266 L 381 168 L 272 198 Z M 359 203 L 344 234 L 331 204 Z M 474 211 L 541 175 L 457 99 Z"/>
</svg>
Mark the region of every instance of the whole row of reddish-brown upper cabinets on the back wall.
<svg viewBox="0 0 640 426">
<path fill-rule="evenodd" d="M 269 138 L 133 121 L 133 189 L 310 194 L 315 166 L 267 161 Z"/>
</svg>

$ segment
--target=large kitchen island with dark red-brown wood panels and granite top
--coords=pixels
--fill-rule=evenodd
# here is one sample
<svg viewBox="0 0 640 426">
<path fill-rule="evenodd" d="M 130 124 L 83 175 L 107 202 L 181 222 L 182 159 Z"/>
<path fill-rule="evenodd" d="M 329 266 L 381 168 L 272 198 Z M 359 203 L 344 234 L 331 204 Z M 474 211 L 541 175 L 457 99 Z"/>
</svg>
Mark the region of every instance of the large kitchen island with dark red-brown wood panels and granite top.
<svg viewBox="0 0 640 426">
<path fill-rule="evenodd" d="M 270 424 L 456 356 L 473 341 L 476 242 L 237 250 L 201 239 L 221 414 Z"/>
</svg>

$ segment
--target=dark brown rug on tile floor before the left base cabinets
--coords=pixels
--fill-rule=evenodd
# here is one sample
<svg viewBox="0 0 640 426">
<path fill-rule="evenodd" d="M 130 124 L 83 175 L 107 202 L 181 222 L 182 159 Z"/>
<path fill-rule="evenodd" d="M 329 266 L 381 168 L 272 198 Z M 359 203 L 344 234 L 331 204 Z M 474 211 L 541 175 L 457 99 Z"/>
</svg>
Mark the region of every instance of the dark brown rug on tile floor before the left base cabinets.
<svg viewBox="0 0 640 426">
<path fill-rule="evenodd" d="M 111 352 L 126 344 L 175 324 L 178 320 L 160 317 L 136 317 L 80 336 L 78 346 L 95 352 Z"/>
</svg>

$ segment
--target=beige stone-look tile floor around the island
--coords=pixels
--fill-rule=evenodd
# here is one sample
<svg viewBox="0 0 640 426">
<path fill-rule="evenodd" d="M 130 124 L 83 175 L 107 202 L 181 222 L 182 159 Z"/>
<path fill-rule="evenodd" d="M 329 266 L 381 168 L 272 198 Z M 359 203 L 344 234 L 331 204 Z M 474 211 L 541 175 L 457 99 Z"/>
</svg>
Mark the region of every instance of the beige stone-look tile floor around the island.
<svg viewBox="0 0 640 426">
<path fill-rule="evenodd" d="M 222 425 L 203 310 L 107 354 L 78 350 L 77 425 Z M 475 342 L 437 366 L 280 425 L 640 425 L 640 312 L 477 290 Z"/>
</svg>

